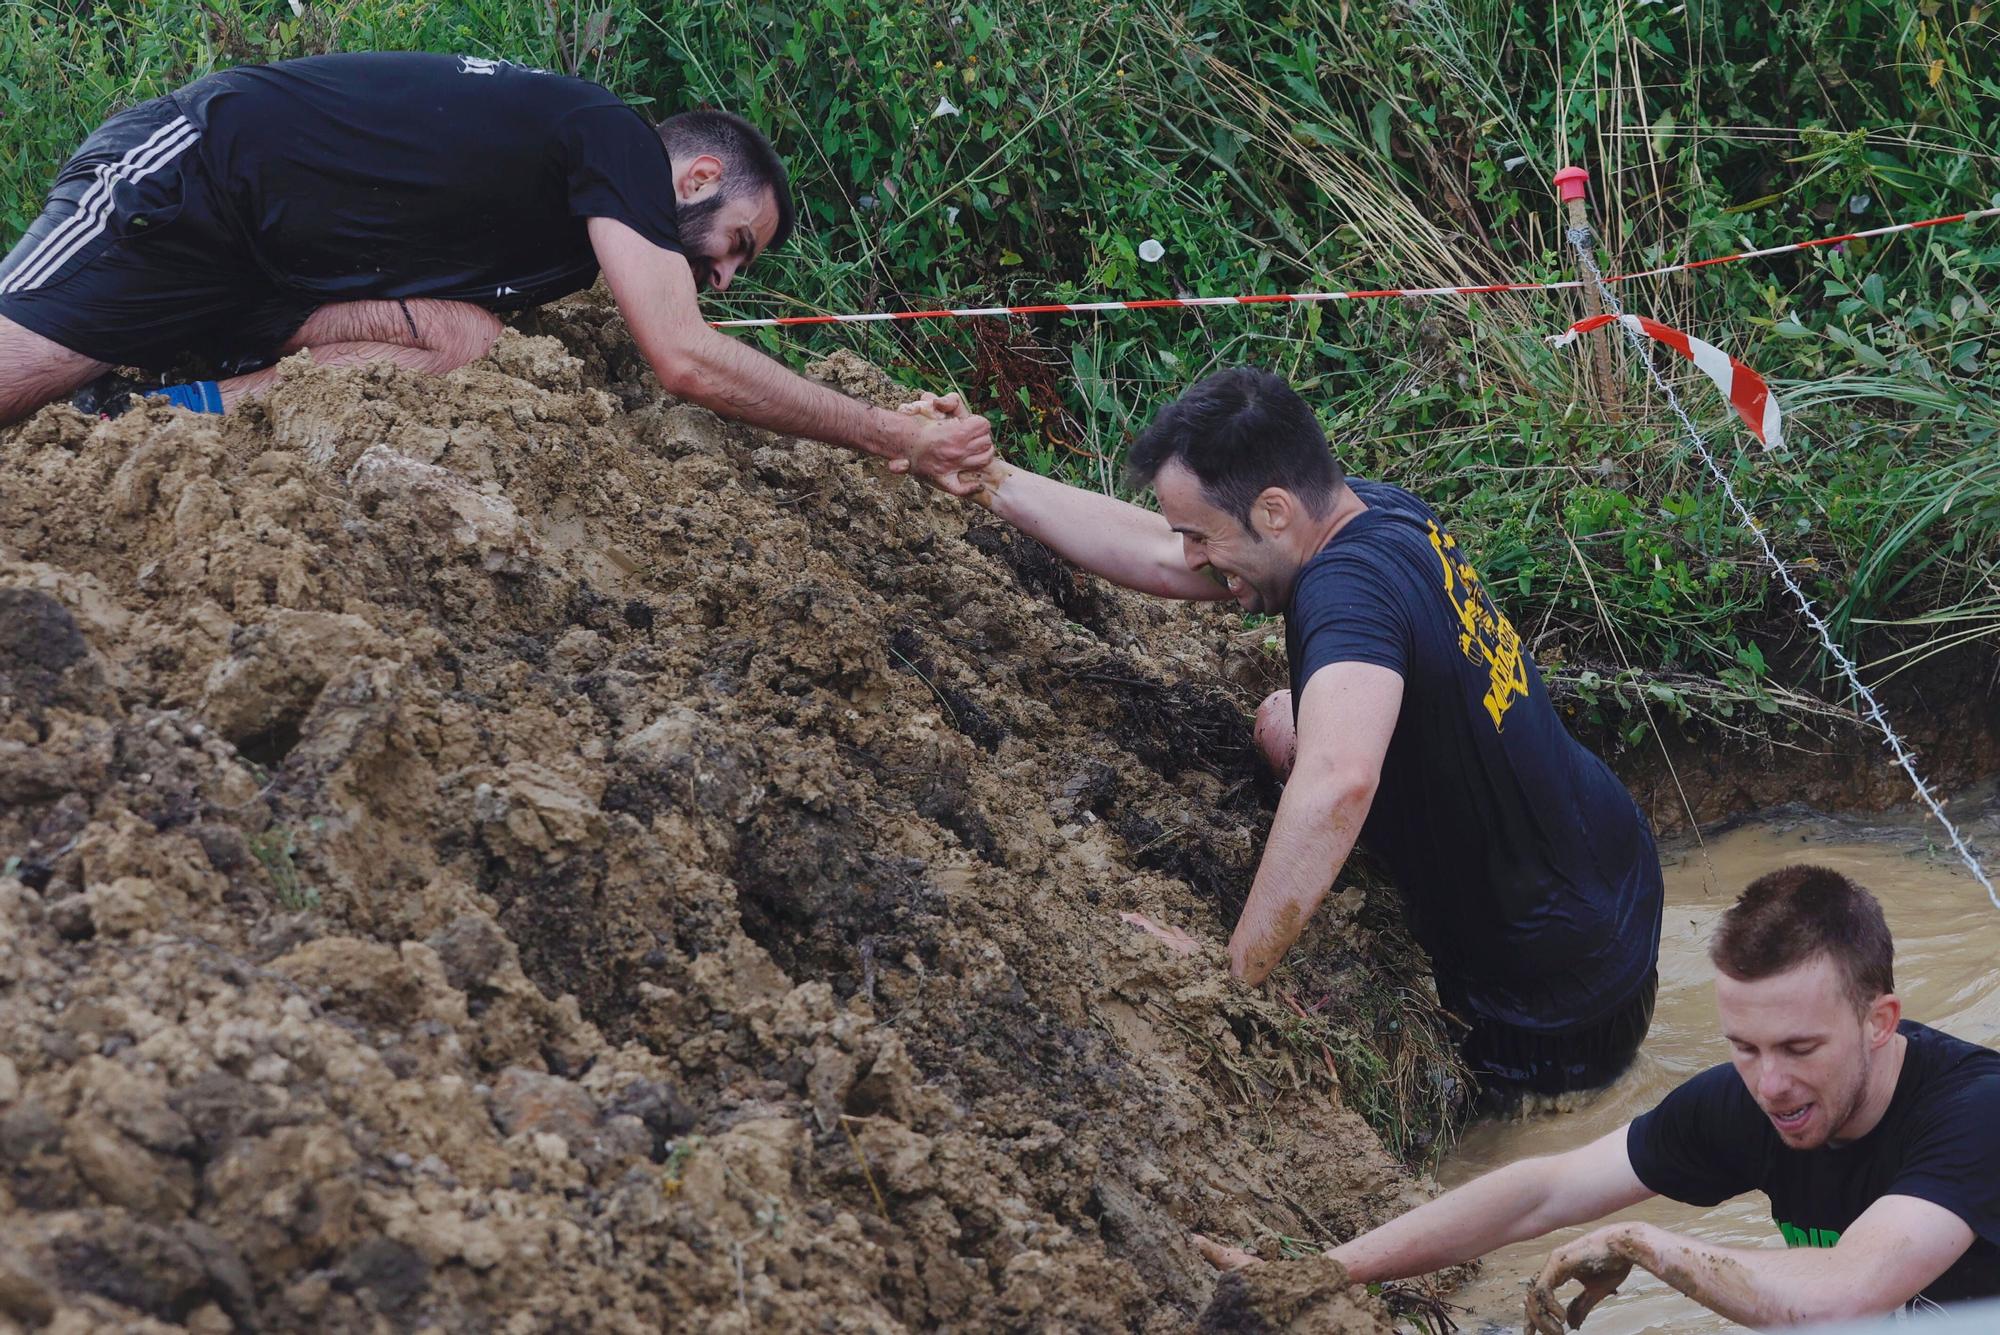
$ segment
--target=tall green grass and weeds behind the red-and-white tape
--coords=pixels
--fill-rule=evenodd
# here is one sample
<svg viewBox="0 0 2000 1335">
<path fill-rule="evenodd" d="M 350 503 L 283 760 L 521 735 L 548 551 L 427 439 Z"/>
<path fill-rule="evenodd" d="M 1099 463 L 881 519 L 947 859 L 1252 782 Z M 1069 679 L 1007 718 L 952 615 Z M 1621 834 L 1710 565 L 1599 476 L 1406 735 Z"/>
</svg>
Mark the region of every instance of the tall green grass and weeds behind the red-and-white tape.
<svg viewBox="0 0 2000 1335">
<path fill-rule="evenodd" d="M 1608 268 L 2000 202 L 2000 6 L 1554 10 L 8 0 L 0 236 L 122 104 L 226 62 L 388 46 L 764 124 L 806 226 L 718 314 L 1568 278 L 1548 190 L 1566 158 L 1594 172 Z M 1668 372 L 1874 675 L 2000 636 L 1996 260 L 2000 224 L 1980 224 L 1624 290 L 1776 384 L 1788 448 L 1762 454 L 1706 382 Z M 764 344 L 792 360 L 846 344 L 964 388 L 1016 458 L 1102 488 L 1180 386 L 1260 362 L 1322 408 L 1352 470 L 1446 510 L 1582 707 L 1812 707 L 1772 677 L 1838 701 L 1630 354 L 1608 404 L 1582 380 L 1588 354 L 1544 348 L 1576 314 L 1516 294 Z"/>
</svg>

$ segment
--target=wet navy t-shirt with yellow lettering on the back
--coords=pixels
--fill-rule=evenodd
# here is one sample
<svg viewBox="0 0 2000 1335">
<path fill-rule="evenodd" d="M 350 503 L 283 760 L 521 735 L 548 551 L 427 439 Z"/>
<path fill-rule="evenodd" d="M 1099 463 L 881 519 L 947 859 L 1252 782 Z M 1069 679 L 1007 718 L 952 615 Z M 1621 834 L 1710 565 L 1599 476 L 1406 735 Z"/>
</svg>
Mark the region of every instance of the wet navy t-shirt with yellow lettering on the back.
<svg viewBox="0 0 2000 1335">
<path fill-rule="evenodd" d="M 1548 703 L 1514 626 L 1424 502 L 1368 506 L 1298 576 L 1292 705 L 1330 664 L 1402 677 L 1362 845 L 1402 891 L 1452 1007 L 1540 1033 L 1602 1019 L 1660 957 L 1652 831 Z"/>
</svg>

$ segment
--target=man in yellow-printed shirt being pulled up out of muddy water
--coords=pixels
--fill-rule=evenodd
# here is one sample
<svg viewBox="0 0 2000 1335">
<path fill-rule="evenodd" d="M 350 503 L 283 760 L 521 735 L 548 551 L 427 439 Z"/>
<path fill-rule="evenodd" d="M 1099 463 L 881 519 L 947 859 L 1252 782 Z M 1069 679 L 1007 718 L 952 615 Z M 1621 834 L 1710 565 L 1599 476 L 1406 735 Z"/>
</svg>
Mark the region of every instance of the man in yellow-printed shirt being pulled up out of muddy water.
<svg viewBox="0 0 2000 1335">
<path fill-rule="evenodd" d="M 1160 514 L 1000 462 L 978 500 L 1114 584 L 1284 614 L 1292 689 L 1258 709 L 1258 739 L 1286 787 L 1230 971 L 1262 981 L 1360 841 L 1486 1087 L 1608 1083 L 1652 1019 L 1660 859 L 1438 516 L 1346 478 L 1304 400 L 1248 368 L 1162 410 L 1132 474 Z"/>
</svg>

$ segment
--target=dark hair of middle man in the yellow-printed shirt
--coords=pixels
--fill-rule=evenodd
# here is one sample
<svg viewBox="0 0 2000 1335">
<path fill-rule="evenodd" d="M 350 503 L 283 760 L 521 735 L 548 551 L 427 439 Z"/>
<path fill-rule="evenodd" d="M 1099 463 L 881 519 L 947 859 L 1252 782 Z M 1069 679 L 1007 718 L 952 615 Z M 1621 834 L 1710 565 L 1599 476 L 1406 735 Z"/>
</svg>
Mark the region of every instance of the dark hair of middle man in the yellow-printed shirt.
<svg viewBox="0 0 2000 1335">
<path fill-rule="evenodd" d="M 1346 482 L 1320 420 L 1282 376 L 1236 366 L 1196 382 L 1132 442 L 1132 486 L 1180 462 L 1202 492 L 1250 528 L 1264 488 L 1284 488 L 1324 516 Z"/>
</svg>

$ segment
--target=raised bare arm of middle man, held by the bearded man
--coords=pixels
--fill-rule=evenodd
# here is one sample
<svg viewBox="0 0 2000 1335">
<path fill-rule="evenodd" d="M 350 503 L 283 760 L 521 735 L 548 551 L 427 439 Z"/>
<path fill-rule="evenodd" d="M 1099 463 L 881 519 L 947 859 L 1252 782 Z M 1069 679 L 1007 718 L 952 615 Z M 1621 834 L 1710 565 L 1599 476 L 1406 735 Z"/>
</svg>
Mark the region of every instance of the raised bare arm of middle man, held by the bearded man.
<svg viewBox="0 0 2000 1335">
<path fill-rule="evenodd" d="M 1156 598 L 1216 600 L 1228 592 L 1188 570 L 1180 536 L 1150 510 L 994 460 L 972 500 L 1048 544 L 1062 560 Z"/>
</svg>

